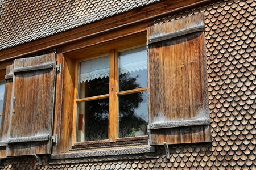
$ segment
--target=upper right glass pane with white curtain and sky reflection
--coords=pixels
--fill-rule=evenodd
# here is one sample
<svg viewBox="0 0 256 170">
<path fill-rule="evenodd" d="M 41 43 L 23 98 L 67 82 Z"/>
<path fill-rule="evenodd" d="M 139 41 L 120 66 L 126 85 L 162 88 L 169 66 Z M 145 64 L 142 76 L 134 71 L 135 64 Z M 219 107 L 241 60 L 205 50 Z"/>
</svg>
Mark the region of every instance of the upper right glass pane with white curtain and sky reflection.
<svg viewBox="0 0 256 170">
<path fill-rule="evenodd" d="M 146 46 L 119 53 L 118 76 L 119 91 L 147 86 Z"/>
</svg>

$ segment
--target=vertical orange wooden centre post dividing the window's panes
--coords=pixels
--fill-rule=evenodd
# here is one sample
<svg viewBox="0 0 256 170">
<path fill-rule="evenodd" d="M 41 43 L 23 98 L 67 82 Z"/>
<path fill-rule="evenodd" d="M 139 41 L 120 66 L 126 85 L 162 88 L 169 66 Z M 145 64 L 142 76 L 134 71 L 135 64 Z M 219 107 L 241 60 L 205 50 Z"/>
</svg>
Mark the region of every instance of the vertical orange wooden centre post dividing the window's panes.
<svg viewBox="0 0 256 170">
<path fill-rule="evenodd" d="M 109 55 L 109 141 L 117 139 L 117 51 L 110 50 Z"/>
</svg>

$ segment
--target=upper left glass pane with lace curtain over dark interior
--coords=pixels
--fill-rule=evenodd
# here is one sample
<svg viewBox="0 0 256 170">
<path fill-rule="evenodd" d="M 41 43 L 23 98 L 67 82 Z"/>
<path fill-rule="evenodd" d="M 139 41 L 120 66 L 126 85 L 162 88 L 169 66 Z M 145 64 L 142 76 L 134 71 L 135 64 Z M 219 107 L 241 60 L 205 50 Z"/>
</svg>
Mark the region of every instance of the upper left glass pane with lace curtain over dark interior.
<svg viewBox="0 0 256 170">
<path fill-rule="evenodd" d="M 79 99 L 109 94 L 109 56 L 80 62 Z"/>
</svg>

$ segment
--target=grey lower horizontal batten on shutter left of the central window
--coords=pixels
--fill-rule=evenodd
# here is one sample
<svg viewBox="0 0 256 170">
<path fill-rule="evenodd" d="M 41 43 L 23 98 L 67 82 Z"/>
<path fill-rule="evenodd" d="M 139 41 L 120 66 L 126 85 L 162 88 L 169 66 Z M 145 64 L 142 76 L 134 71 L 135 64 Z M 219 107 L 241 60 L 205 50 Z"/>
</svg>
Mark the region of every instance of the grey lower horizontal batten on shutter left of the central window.
<svg viewBox="0 0 256 170">
<path fill-rule="evenodd" d="M 32 137 L 20 137 L 20 138 L 10 138 L 7 143 L 20 143 L 20 142 L 36 142 L 36 141 L 48 141 L 49 135 L 42 136 L 32 136 Z"/>
</svg>

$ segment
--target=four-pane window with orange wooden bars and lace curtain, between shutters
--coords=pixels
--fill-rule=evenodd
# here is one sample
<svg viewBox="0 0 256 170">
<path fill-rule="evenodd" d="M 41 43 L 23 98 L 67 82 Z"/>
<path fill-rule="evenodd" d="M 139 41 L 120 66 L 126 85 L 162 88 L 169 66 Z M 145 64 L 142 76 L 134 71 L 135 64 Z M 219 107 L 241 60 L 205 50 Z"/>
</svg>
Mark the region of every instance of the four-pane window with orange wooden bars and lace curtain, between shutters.
<svg viewBox="0 0 256 170">
<path fill-rule="evenodd" d="M 147 135 L 146 46 L 79 62 L 76 142 Z"/>
</svg>

